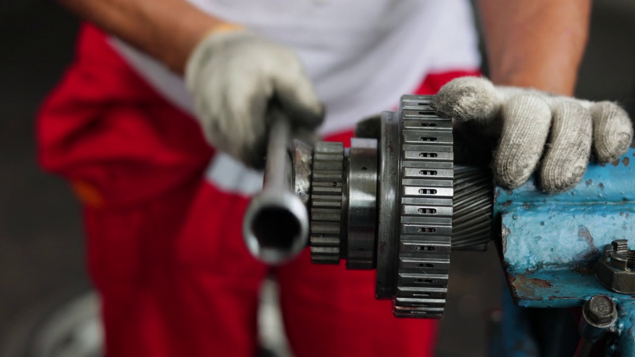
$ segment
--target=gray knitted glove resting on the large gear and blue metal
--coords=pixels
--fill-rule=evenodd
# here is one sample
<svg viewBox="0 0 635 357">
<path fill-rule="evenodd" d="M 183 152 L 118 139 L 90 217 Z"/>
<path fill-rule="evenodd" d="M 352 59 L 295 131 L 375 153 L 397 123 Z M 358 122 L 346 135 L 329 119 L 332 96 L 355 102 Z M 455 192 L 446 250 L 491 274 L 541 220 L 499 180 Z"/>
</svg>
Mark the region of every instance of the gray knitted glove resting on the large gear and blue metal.
<svg viewBox="0 0 635 357">
<path fill-rule="evenodd" d="M 631 119 L 615 103 L 494 86 L 481 77 L 454 79 L 441 88 L 432 107 L 500 135 L 493 168 L 498 184 L 510 188 L 525 183 L 542 158 L 542 189 L 570 189 L 582 179 L 591 147 L 606 163 L 627 151 L 633 135 Z"/>
</svg>

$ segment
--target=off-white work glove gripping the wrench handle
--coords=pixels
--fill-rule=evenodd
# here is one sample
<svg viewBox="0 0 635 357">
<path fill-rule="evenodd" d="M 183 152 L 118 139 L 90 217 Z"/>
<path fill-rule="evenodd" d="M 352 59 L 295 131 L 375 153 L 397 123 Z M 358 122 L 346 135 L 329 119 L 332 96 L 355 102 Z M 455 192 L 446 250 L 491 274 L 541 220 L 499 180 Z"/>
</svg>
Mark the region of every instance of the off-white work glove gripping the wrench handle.
<svg viewBox="0 0 635 357">
<path fill-rule="evenodd" d="M 205 138 L 252 168 L 264 166 L 276 111 L 294 137 L 314 137 L 324 118 L 297 55 L 240 27 L 212 31 L 192 51 L 185 83 Z"/>
</svg>

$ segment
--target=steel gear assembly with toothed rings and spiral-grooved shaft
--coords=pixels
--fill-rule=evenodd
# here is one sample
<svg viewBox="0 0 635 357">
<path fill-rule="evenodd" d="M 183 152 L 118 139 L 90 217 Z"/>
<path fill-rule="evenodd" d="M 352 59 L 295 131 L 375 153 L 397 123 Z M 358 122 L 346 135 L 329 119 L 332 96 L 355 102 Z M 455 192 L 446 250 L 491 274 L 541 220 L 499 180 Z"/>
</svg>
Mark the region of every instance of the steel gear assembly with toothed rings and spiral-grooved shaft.
<svg viewBox="0 0 635 357">
<path fill-rule="evenodd" d="M 490 238 L 489 170 L 454 165 L 452 121 L 432 98 L 402 97 L 377 139 L 313 151 L 312 262 L 377 269 L 375 297 L 392 298 L 398 317 L 441 318 L 451 249 L 484 250 Z"/>
</svg>

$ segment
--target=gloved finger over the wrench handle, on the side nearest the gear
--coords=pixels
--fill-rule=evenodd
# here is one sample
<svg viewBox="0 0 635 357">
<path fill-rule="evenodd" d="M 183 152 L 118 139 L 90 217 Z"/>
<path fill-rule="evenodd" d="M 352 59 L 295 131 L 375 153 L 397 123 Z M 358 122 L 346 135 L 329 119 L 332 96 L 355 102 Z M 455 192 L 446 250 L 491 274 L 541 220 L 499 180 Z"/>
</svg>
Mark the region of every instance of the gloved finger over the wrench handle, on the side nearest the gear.
<svg viewBox="0 0 635 357">
<path fill-rule="evenodd" d="M 275 99 L 294 128 L 318 128 L 324 121 L 324 105 L 295 54 L 288 51 L 285 59 L 272 69 Z"/>
</svg>

